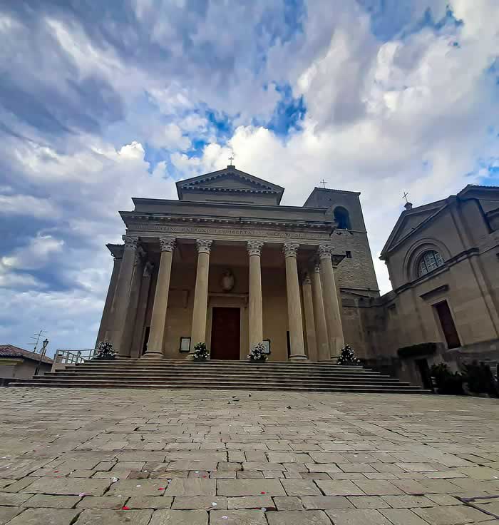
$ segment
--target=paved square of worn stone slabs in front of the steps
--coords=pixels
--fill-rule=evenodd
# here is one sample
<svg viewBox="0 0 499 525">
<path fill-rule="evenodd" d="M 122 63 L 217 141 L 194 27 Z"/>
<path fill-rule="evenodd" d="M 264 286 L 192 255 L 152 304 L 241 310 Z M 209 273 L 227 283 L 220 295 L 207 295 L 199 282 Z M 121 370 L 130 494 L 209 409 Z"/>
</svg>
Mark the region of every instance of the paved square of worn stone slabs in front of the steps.
<svg viewBox="0 0 499 525">
<path fill-rule="evenodd" d="M 499 524 L 499 402 L 0 389 L 0 525 Z"/>
</svg>

